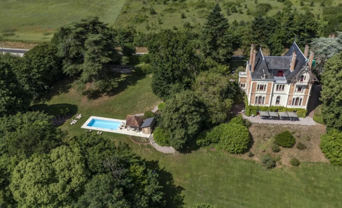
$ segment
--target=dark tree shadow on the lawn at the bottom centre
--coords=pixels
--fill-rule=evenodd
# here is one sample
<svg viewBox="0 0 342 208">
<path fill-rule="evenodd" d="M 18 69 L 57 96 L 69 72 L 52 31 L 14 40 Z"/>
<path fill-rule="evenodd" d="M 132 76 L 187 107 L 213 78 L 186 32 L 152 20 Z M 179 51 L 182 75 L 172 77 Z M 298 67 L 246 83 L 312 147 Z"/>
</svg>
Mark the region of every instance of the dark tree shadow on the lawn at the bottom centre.
<svg viewBox="0 0 342 208">
<path fill-rule="evenodd" d="M 185 189 L 182 186 L 174 184 L 172 173 L 165 170 L 165 167 L 160 169 L 158 161 L 145 161 L 149 169 L 156 171 L 159 175 L 158 181 L 163 186 L 162 191 L 165 193 L 166 206 L 168 208 L 182 208 L 184 205 L 184 195 L 182 191 Z"/>
</svg>

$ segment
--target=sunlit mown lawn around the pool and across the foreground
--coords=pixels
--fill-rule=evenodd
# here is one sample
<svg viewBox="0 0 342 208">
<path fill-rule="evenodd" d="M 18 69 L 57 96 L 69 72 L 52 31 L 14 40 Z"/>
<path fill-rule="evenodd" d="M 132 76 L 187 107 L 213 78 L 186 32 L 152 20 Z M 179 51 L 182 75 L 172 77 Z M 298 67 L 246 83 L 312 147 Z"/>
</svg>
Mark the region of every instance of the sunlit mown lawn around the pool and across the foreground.
<svg viewBox="0 0 342 208">
<path fill-rule="evenodd" d="M 32 108 L 48 111 L 53 105 L 65 104 L 73 114 L 83 114 L 78 124 L 71 126 L 66 122 L 61 126 L 73 136 L 84 131 L 80 127 L 91 115 L 123 119 L 127 114 L 152 109 L 159 99 L 151 92 L 151 80 L 150 76 L 125 76 L 112 96 L 88 100 L 70 88 L 73 80 L 67 78 L 56 84 L 46 102 Z M 174 183 L 183 190 L 184 207 L 202 202 L 224 208 L 342 207 L 342 167 L 329 163 L 302 162 L 299 167 L 267 170 L 258 161 L 240 159 L 210 147 L 190 154 L 167 155 L 150 145 L 133 143 L 126 135 L 103 135 L 129 143 L 135 153 L 158 161 L 161 168 L 172 173 Z M 176 204 L 168 200 L 167 207 L 174 208 Z"/>
</svg>

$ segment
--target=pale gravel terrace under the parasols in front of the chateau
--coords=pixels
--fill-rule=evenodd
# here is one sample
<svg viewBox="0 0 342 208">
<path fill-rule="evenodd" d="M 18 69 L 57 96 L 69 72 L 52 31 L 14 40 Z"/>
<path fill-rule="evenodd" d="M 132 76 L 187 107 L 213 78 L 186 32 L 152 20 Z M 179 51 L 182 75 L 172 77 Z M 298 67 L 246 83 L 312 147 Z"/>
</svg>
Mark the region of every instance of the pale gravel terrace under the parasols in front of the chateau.
<svg viewBox="0 0 342 208">
<path fill-rule="evenodd" d="M 260 116 L 246 116 L 242 115 L 244 118 L 248 119 L 252 123 L 260 123 L 260 124 L 294 124 L 294 125 L 305 125 L 305 126 L 313 126 L 317 125 L 316 122 L 311 117 L 298 118 L 299 120 L 290 121 L 290 120 L 279 120 L 279 119 L 261 119 Z"/>
</svg>

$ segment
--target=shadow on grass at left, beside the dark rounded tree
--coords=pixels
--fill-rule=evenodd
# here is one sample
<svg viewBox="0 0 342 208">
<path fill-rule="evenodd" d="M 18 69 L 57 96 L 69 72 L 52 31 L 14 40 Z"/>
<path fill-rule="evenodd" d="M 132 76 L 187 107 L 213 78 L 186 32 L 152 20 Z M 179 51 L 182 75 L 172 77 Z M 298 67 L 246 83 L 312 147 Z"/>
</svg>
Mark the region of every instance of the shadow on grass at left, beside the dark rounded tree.
<svg viewBox="0 0 342 208">
<path fill-rule="evenodd" d="M 43 96 L 35 99 L 34 103 L 49 102 L 52 97 L 69 92 L 75 80 L 76 77 L 65 77 L 57 81 L 50 90 L 45 92 Z"/>
</svg>

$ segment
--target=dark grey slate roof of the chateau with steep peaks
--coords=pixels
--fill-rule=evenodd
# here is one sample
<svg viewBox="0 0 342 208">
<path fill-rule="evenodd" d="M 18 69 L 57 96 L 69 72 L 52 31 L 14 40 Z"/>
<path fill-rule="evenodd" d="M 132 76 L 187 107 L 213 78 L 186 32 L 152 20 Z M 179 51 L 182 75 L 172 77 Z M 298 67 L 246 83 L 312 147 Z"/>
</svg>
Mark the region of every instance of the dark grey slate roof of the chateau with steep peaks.
<svg viewBox="0 0 342 208">
<path fill-rule="evenodd" d="M 289 69 L 292 61 L 293 52 L 296 52 L 297 57 L 294 65 L 294 70 L 291 72 Z M 249 62 L 247 62 L 247 64 L 249 64 Z M 286 78 L 286 80 L 289 80 L 297 75 L 303 68 L 303 66 L 306 65 L 307 59 L 305 58 L 304 54 L 299 49 L 297 44 L 294 42 L 284 56 L 264 56 L 262 51 L 259 50 L 257 55 L 255 56 L 254 71 L 251 73 L 251 77 L 253 80 L 275 80 L 270 69 L 279 69 L 284 70 L 284 77 Z M 263 74 L 265 74 L 265 79 L 262 79 Z"/>
</svg>

